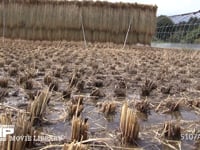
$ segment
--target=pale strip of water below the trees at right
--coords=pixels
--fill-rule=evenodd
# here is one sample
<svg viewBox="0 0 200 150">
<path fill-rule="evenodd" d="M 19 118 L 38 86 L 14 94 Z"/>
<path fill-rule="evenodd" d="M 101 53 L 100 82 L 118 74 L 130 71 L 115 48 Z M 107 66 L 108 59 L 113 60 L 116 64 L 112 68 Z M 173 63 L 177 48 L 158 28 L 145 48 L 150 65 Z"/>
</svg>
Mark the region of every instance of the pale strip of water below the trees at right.
<svg viewBox="0 0 200 150">
<path fill-rule="evenodd" d="M 152 47 L 158 48 L 178 48 L 200 50 L 200 44 L 183 44 L 183 43 L 151 43 Z"/>
</svg>

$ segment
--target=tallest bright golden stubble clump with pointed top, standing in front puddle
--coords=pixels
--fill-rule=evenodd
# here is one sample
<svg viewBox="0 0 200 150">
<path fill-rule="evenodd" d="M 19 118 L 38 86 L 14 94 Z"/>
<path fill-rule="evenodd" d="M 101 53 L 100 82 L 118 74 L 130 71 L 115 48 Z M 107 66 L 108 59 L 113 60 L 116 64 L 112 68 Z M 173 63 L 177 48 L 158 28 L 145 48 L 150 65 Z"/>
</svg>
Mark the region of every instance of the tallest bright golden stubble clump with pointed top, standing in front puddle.
<svg viewBox="0 0 200 150">
<path fill-rule="evenodd" d="M 122 106 L 120 130 L 122 132 L 123 143 L 134 143 L 137 140 L 139 134 L 139 123 L 136 113 L 128 108 L 127 103 Z"/>
</svg>

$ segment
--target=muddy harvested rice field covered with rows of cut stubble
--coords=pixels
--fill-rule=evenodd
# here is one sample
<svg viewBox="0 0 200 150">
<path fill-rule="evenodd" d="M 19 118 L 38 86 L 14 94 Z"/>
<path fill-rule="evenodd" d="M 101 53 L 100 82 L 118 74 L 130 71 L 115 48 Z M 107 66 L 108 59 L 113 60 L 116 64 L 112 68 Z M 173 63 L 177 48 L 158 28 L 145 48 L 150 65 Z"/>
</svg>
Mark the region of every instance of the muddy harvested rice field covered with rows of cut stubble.
<svg viewBox="0 0 200 150">
<path fill-rule="evenodd" d="M 198 150 L 200 51 L 0 40 L 1 149 Z"/>
</svg>

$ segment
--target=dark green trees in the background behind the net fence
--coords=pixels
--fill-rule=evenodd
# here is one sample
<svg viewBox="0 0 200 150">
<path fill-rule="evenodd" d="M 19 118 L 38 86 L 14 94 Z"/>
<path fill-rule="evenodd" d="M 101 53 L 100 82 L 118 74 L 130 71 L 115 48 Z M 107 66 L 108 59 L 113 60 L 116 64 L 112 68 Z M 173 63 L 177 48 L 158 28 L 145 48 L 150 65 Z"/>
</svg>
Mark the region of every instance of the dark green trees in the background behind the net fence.
<svg viewBox="0 0 200 150">
<path fill-rule="evenodd" d="M 156 38 L 158 41 L 200 43 L 200 18 L 174 24 L 167 16 L 157 17 Z"/>
</svg>

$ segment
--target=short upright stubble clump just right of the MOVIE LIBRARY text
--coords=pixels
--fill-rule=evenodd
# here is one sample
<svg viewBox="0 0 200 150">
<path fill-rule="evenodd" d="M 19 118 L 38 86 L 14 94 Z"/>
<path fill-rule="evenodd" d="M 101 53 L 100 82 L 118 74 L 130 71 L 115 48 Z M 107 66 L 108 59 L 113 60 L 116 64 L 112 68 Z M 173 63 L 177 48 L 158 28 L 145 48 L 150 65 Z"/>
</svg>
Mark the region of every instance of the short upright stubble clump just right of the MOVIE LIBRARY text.
<svg viewBox="0 0 200 150">
<path fill-rule="evenodd" d="M 71 129 L 71 140 L 72 141 L 82 141 L 88 139 L 88 123 L 87 119 L 84 121 L 79 117 L 74 116 L 72 119 L 72 129 Z"/>
</svg>

